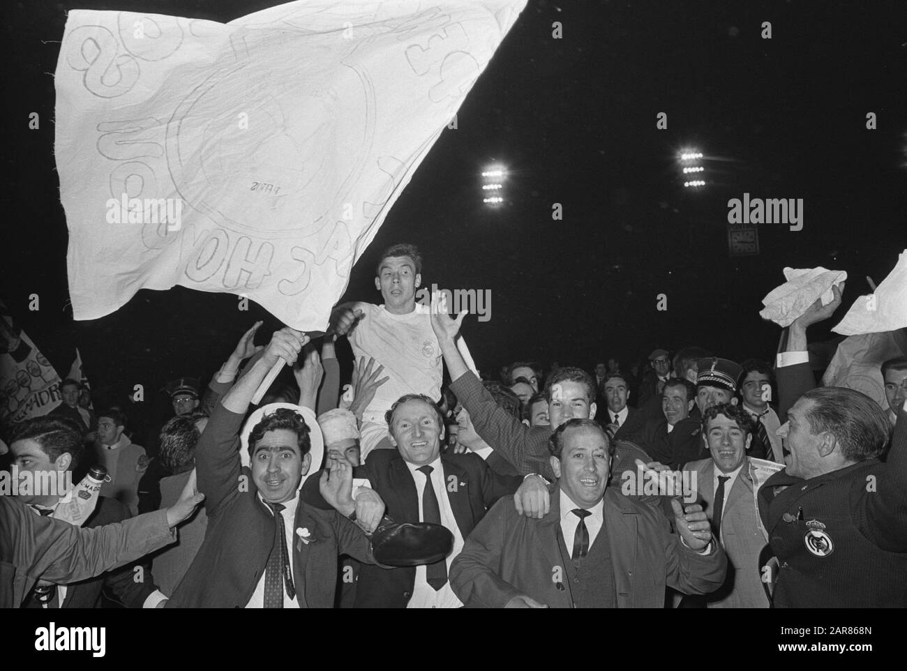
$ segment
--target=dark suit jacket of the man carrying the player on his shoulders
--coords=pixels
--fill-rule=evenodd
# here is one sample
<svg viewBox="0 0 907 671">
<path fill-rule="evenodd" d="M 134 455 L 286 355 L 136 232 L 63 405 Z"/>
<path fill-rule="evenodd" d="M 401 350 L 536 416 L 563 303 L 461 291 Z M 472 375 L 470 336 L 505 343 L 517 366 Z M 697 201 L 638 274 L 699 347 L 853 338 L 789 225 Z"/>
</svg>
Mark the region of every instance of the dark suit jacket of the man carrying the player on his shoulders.
<svg viewBox="0 0 907 671">
<path fill-rule="evenodd" d="M 465 539 L 495 501 L 512 494 L 522 484 L 522 476 L 493 472 L 482 457 L 472 452 L 442 454 L 444 481 L 457 529 Z M 396 522 L 419 521 L 419 493 L 413 473 L 396 450 L 373 450 L 366 465 L 354 471 L 356 478 L 367 478 L 385 501 L 386 514 Z M 324 508 L 316 483 L 306 482 L 305 500 Z M 413 596 L 415 568 L 384 569 L 362 566 L 356 584 L 356 608 L 406 608 Z"/>
</svg>

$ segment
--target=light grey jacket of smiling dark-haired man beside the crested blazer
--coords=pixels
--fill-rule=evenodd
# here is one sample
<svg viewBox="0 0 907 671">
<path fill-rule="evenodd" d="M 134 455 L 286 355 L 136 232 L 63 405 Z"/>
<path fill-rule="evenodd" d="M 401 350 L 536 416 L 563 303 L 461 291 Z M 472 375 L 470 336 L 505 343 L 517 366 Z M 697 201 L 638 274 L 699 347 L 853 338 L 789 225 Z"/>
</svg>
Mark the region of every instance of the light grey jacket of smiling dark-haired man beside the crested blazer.
<svg viewBox="0 0 907 671">
<path fill-rule="evenodd" d="M 684 471 L 696 473 L 697 497 L 706 502 L 706 514 L 715 514 L 715 460 L 689 462 Z M 727 552 L 725 584 L 707 596 L 708 608 L 768 608 L 762 587 L 759 553 L 766 547 L 766 537 L 756 526 L 756 499 L 749 457 L 737 474 L 734 486 L 725 492 L 725 510 L 721 516 L 721 544 Z"/>
</svg>

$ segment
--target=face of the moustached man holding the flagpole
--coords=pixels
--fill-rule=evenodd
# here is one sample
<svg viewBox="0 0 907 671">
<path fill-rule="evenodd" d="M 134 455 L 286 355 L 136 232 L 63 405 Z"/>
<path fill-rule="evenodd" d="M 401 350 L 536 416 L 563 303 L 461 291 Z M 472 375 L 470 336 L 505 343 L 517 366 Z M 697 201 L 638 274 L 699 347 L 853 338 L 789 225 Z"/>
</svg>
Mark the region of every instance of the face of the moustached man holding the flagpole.
<svg viewBox="0 0 907 671">
<path fill-rule="evenodd" d="M 274 429 L 265 433 L 252 450 L 252 481 L 269 503 L 284 503 L 296 496 L 312 455 L 299 451 L 295 431 Z"/>
</svg>

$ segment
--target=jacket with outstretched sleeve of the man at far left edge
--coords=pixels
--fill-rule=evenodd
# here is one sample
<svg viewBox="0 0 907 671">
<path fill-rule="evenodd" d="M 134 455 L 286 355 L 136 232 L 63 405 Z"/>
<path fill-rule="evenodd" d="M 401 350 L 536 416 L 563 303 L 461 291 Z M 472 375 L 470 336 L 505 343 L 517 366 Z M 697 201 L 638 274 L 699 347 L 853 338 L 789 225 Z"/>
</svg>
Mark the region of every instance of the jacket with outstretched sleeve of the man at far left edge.
<svg viewBox="0 0 907 671">
<path fill-rule="evenodd" d="M 89 579 L 175 539 L 165 511 L 83 529 L 0 496 L 0 608 L 18 608 L 39 578 Z"/>
</svg>

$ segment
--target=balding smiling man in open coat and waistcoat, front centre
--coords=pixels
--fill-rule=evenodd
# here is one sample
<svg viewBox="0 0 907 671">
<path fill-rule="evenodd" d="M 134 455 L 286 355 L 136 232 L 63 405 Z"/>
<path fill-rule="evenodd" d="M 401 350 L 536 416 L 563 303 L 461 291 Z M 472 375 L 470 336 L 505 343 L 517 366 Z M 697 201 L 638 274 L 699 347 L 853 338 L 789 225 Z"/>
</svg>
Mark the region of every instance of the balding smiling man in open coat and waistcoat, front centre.
<svg viewBox="0 0 907 671">
<path fill-rule="evenodd" d="M 608 487 L 613 455 L 594 421 L 561 424 L 551 436 L 551 510 L 537 520 L 510 497 L 498 501 L 453 561 L 467 607 L 661 608 L 667 586 L 702 594 L 721 585 L 727 559 L 702 507 L 672 500 L 672 533 L 654 505 Z"/>
</svg>

